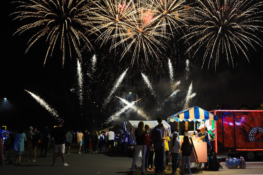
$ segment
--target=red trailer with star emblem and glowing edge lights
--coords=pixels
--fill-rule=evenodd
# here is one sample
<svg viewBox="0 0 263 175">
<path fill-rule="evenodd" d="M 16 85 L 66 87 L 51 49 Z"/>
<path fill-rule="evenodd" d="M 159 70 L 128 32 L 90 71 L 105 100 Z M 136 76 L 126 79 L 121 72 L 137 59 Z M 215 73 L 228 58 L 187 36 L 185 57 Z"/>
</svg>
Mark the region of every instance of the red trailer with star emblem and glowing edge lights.
<svg viewBox="0 0 263 175">
<path fill-rule="evenodd" d="M 212 112 L 212 111 L 211 111 Z M 241 154 L 253 160 L 263 153 L 263 110 L 214 110 L 217 154 Z"/>
</svg>

